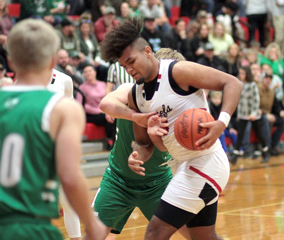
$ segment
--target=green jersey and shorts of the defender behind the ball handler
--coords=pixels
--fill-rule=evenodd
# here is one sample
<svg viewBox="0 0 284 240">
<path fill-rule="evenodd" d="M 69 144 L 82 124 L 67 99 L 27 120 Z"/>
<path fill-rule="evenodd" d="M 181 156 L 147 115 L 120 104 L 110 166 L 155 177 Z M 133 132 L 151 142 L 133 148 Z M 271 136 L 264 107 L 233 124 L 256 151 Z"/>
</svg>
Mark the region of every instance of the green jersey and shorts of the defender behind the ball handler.
<svg viewBox="0 0 284 240">
<path fill-rule="evenodd" d="M 140 208 L 150 220 L 172 178 L 170 168 L 159 166 L 171 159 L 171 156 L 157 148 L 143 164 L 145 176 L 134 173 L 128 166 L 134 140 L 132 122 L 117 119 L 116 141 L 109 156 L 109 166 L 103 174 L 93 203 L 96 215 L 115 234 L 122 231 L 135 207 Z"/>
</svg>

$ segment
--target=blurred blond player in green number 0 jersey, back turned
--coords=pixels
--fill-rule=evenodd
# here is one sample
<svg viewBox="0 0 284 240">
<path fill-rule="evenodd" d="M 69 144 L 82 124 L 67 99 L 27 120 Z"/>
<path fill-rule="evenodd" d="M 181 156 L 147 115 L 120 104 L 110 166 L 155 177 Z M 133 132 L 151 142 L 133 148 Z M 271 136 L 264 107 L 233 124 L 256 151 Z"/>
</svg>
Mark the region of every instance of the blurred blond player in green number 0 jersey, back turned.
<svg viewBox="0 0 284 240">
<path fill-rule="evenodd" d="M 7 41 L 17 85 L 0 91 L 0 239 L 62 239 L 57 176 L 86 227 L 104 239 L 106 227 L 90 211 L 80 170 L 84 112 L 78 103 L 46 90 L 59 37 L 42 20 L 23 20 Z"/>
</svg>

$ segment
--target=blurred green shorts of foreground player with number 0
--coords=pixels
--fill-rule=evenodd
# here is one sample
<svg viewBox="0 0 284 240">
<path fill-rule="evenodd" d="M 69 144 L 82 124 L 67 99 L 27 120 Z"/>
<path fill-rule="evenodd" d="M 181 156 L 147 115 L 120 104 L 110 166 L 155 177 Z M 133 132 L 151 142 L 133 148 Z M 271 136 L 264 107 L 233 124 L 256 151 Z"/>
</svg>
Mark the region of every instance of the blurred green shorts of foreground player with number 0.
<svg viewBox="0 0 284 240">
<path fill-rule="evenodd" d="M 60 231 L 50 219 L 25 215 L 0 217 L 0 239 L 5 240 L 63 240 Z"/>
</svg>

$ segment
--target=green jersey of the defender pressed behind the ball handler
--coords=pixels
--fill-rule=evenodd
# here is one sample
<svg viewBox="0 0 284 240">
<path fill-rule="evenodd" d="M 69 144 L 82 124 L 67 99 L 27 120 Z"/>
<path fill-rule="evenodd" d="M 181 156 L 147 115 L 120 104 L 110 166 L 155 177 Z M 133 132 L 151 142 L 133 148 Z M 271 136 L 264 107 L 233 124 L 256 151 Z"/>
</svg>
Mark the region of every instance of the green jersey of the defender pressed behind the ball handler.
<svg viewBox="0 0 284 240">
<path fill-rule="evenodd" d="M 122 176 L 138 179 L 149 180 L 158 175 L 170 171 L 166 166 L 160 166 L 171 158 L 170 154 L 159 151 L 154 147 L 154 153 L 151 158 L 143 164 L 145 176 L 133 172 L 128 166 L 128 157 L 132 153 L 132 144 L 134 143 L 134 133 L 132 122 L 125 119 L 117 119 L 116 141 L 109 156 L 109 165 Z"/>
</svg>

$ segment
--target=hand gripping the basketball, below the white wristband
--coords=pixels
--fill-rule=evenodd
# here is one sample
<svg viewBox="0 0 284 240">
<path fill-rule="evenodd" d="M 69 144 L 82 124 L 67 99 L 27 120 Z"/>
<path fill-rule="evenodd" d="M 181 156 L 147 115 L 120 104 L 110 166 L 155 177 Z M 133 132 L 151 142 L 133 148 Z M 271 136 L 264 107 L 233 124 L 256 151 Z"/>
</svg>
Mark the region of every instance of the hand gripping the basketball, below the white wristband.
<svg viewBox="0 0 284 240">
<path fill-rule="evenodd" d="M 196 141 L 197 150 L 204 150 L 210 148 L 215 141 L 220 137 L 224 129 L 226 128 L 225 124 L 220 120 L 216 120 L 208 123 L 199 123 L 199 126 L 202 128 L 208 128 L 208 133 Z"/>
</svg>

